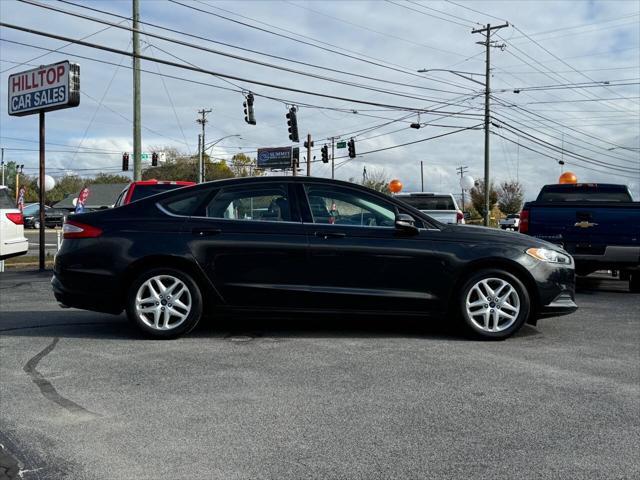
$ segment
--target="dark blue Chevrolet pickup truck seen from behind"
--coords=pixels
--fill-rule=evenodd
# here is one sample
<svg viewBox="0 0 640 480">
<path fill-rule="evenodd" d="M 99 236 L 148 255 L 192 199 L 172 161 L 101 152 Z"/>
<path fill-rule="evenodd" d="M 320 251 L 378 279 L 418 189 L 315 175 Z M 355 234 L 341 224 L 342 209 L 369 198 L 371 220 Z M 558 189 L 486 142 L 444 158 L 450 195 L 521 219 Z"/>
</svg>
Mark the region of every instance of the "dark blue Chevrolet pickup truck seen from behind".
<svg viewBox="0 0 640 480">
<path fill-rule="evenodd" d="M 524 204 L 520 232 L 567 250 L 578 275 L 618 270 L 640 292 L 640 202 L 626 185 L 545 185 Z"/>
</svg>

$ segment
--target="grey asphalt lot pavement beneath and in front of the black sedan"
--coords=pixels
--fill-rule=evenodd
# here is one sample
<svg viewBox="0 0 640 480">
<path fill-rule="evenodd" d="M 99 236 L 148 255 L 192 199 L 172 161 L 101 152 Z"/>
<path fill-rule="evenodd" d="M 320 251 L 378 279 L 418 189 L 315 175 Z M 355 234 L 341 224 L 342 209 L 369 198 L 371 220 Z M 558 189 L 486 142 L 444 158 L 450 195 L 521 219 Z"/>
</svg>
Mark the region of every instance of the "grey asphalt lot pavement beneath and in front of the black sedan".
<svg viewBox="0 0 640 480">
<path fill-rule="evenodd" d="M 640 478 L 640 295 L 591 279 L 577 302 L 503 342 L 332 317 L 152 341 L 124 316 L 59 308 L 49 274 L 6 272 L 0 465 L 43 480 Z"/>
</svg>

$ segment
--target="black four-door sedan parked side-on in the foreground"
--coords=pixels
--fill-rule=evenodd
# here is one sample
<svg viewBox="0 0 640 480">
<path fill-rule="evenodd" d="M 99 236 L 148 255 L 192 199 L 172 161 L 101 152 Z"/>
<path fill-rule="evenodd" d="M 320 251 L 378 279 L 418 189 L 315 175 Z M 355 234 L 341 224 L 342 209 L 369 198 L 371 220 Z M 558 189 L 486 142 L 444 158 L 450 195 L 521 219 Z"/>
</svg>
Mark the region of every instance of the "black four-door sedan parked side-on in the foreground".
<svg viewBox="0 0 640 480">
<path fill-rule="evenodd" d="M 500 339 L 577 308 L 573 260 L 556 245 L 310 177 L 221 180 L 74 215 L 52 285 L 63 306 L 126 310 L 158 338 L 233 309 L 419 315 Z"/>
</svg>

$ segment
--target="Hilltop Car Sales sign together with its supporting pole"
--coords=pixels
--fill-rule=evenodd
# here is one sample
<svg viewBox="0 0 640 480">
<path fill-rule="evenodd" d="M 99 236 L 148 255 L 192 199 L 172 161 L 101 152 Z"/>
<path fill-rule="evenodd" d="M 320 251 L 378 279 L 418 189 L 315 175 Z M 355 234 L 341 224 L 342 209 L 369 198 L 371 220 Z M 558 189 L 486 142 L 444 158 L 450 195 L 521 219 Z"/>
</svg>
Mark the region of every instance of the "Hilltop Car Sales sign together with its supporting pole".
<svg viewBox="0 0 640 480">
<path fill-rule="evenodd" d="M 43 65 L 9 76 L 9 115 L 38 114 L 40 131 L 39 201 L 40 270 L 44 270 L 45 112 L 80 104 L 80 66 L 68 61 Z"/>
</svg>

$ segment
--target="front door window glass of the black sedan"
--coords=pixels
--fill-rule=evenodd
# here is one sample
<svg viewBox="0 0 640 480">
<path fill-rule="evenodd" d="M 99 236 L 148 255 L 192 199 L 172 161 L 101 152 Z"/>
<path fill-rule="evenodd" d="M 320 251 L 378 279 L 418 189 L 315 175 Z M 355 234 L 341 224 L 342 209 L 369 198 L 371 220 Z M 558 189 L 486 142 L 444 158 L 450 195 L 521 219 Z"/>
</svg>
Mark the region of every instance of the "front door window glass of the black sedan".
<svg viewBox="0 0 640 480">
<path fill-rule="evenodd" d="M 395 209 L 372 195 L 332 185 L 305 185 L 313 223 L 393 227 Z"/>
</svg>

